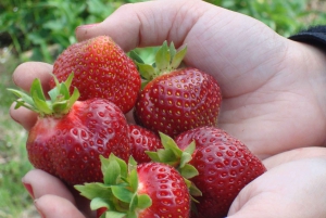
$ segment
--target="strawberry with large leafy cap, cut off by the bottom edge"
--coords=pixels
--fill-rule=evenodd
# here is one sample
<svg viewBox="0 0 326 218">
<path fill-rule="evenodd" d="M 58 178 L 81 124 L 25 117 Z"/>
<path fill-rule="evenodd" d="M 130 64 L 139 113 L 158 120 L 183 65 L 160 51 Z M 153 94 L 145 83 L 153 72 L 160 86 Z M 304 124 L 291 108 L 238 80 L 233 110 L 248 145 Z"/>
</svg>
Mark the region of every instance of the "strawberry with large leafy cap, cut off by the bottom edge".
<svg viewBox="0 0 326 218">
<path fill-rule="evenodd" d="M 142 163 L 130 157 L 128 165 L 111 154 L 101 157 L 103 183 L 75 185 L 83 196 L 91 200 L 91 209 L 104 217 L 188 218 L 190 194 L 184 178 L 170 165 Z"/>
</svg>

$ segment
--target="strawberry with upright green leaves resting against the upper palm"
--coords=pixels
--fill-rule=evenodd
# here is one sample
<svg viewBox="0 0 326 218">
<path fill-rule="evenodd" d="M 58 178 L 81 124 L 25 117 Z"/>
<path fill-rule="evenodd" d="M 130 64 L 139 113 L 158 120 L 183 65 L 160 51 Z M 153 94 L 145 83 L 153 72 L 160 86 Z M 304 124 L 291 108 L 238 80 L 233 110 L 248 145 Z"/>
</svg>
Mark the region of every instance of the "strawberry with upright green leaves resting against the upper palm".
<svg viewBox="0 0 326 218">
<path fill-rule="evenodd" d="M 198 68 L 178 68 L 186 50 L 176 52 L 173 43 L 168 48 L 164 42 L 155 55 L 155 67 L 134 56 L 146 80 L 134 113 L 140 126 L 170 137 L 201 126 L 216 126 L 222 102 L 220 86 Z"/>
</svg>

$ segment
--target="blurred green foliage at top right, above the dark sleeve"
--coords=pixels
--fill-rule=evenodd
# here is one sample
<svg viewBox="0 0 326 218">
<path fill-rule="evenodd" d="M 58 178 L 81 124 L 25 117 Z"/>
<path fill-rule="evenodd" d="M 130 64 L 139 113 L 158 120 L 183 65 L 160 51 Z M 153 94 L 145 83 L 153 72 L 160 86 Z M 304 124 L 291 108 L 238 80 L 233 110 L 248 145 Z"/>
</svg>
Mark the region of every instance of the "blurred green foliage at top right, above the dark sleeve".
<svg viewBox="0 0 326 218">
<path fill-rule="evenodd" d="M 325 24 L 326 16 L 321 11 L 309 11 L 309 0 L 206 0 L 210 3 L 247 14 L 273 28 L 281 36 L 288 37 L 305 28 L 309 16 L 315 15 L 318 21 L 309 25 Z M 324 15 L 322 17 L 321 15 Z M 304 22 L 305 21 L 305 22 Z"/>
</svg>

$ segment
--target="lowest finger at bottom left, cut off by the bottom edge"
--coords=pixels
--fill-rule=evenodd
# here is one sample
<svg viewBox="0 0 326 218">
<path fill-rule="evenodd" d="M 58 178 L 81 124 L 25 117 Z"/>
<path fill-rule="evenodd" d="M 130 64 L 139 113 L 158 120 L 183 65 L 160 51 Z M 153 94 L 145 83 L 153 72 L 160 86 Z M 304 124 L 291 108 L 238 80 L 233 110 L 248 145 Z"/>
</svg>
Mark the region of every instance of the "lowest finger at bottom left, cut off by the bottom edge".
<svg viewBox="0 0 326 218">
<path fill-rule="evenodd" d="M 71 201 L 57 195 L 43 195 L 34 204 L 41 217 L 45 218 L 85 218 Z"/>
</svg>

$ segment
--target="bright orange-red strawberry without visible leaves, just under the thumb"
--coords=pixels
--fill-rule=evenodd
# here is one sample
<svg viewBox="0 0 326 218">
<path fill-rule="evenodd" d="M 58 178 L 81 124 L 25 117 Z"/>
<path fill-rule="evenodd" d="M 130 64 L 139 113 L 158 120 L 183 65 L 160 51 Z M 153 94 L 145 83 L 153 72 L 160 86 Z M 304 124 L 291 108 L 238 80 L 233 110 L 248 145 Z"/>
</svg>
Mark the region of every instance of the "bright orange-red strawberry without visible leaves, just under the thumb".
<svg viewBox="0 0 326 218">
<path fill-rule="evenodd" d="M 123 113 L 134 107 L 140 89 L 140 75 L 133 60 L 108 36 L 70 46 L 54 62 L 53 74 L 60 81 L 75 74 L 73 87 L 80 101 L 102 98 L 115 103 Z M 50 87 L 55 86 L 54 80 Z"/>
</svg>

